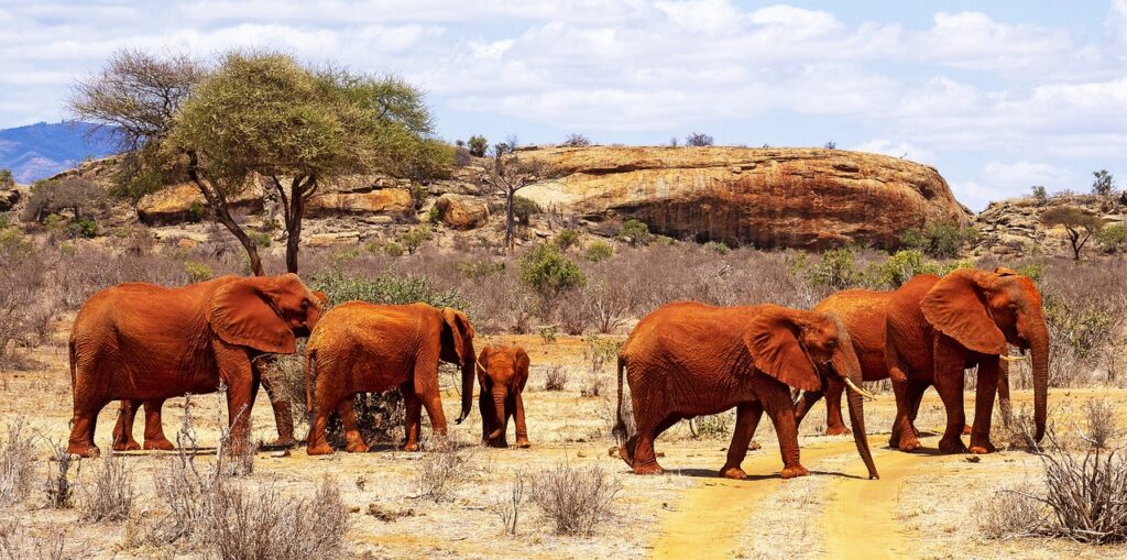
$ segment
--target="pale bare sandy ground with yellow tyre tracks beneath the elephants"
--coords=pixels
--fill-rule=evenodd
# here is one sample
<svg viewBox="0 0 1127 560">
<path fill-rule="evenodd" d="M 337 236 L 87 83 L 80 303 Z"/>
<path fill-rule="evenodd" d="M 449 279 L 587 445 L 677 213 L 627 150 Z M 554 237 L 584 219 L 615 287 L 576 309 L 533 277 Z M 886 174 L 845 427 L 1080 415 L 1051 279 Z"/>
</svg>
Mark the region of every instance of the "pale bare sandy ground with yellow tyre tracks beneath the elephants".
<svg viewBox="0 0 1127 560">
<path fill-rule="evenodd" d="M 0 380 L 0 425 L 24 418 L 38 435 L 38 480 L 48 469 L 47 443 L 62 443 L 69 433 L 70 380 L 63 346 L 69 325 L 62 322 L 52 345 L 36 350 L 35 366 L 5 374 Z M 867 405 L 870 443 L 881 479 L 867 480 L 849 436 L 823 437 L 824 415 L 818 409 L 802 428 L 802 462 L 813 475 L 784 481 L 770 423 L 756 439 L 763 448 L 744 463 L 748 479 L 720 479 L 728 436 L 696 439 L 684 425 L 657 442 L 668 473 L 635 477 L 618 459 L 607 456 L 615 381 L 613 365 L 593 376 L 587 345 L 579 337 L 559 337 L 544 344 L 539 336 L 495 337 L 490 341 L 522 344 L 533 361 L 525 397 L 531 450 L 471 447 L 465 472 L 452 499 L 432 503 L 419 498 L 418 470 L 423 454 L 374 445 L 366 454 L 337 453 L 309 457 L 303 448 L 290 456 L 259 453 L 255 472 L 242 483 L 273 485 L 295 495 L 308 495 L 325 478 L 341 489 L 353 509 L 350 555 L 355 558 L 1111 558 L 1127 554 L 1125 546 L 1084 546 L 1066 541 L 1021 539 L 992 541 L 980 536 L 976 505 L 993 490 L 1039 483 L 1040 461 L 1035 455 L 1006 451 L 968 462 L 967 455 L 938 455 L 938 427 L 943 423 L 938 397 L 929 392 L 920 425 L 935 434 L 924 437 L 923 453 L 886 448 L 894 405 L 880 395 Z M 480 343 L 479 343 L 480 345 Z M 544 370 L 558 364 L 570 372 L 565 391 L 543 391 Z M 601 395 L 582 397 L 592 379 L 603 381 Z M 458 397 L 452 380 L 444 397 L 449 416 L 456 416 Z M 1050 407 L 1058 427 L 1071 426 L 1083 399 L 1093 394 L 1116 400 L 1127 409 L 1124 390 L 1058 390 Z M 1019 392 L 1020 403 L 1031 395 Z M 968 403 L 973 394 L 967 393 Z M 219 395 L 192 399 L 192 417 L 204 446 L 214 445 L 224 420 Z M 968 406 L 968 410 L 973 407 Z M 185 407 L 181 399 L 166 406 L 166 432 L 176 433 Z M 99 418 L 97 442 L 109 446 L 114 408 Z M 264 394 L 252 415 L 254 436 L 274 437 L 273 419 Z M 141 421 L 136 435 L 141 435 Z M 302 428 L 303 429 L 303 428 Z M 512 429 L 512 428 L 511 428 Z M 477 410 L 469 420 L 452 426 L 455 437 L 472 442 L 480 435 Z M 151 489 L 167 457 L 159 453 L 127 456 L 141 491 L 136 517 L 160 510 Z M 206 460 L 206 457 L 202 459 Z M 82 461 L 74 474 L 80 486 L 100 460 Z M 525 505 L 518 534 L 502 531 L 491 506 L 504 499 L 520 472 L 535 473 L 560 464 L 598 465 L 621 483 L 614 518 L 592 536 L 558 536 L 535 507 Z M 82 495 L 79 494 L 79 503 Z M 81 505 L 81 504 L 80 504 Z M 374 506 L 373 506 L 374 505 Z M 370 507 L 406 514 L 385 522 L 367 515 Z M 68 555 L 86 558 L 198 557 L 198 551 L 137 546 L 137 522 L 85 524 L 80 509 L 45 506 L 36 488 L 26 503 L 0 509 L 0 521 L 16 519 L 30 537 L 62 531 Z"/>
</svg>

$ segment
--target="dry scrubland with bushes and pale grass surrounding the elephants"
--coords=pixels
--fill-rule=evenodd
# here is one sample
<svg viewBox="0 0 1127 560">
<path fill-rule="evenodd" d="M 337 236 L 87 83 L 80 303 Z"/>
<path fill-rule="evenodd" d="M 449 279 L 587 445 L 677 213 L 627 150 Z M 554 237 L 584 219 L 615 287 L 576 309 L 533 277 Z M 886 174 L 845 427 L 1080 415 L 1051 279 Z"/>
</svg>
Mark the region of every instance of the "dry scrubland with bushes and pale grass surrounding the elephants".
<svg viewBox="0 0 1127 560">
<path fill-rule="evenodd" d="M 894 255 L 869 249 L 807 254 L 727 246 L 718 250 L 663 238 L 648 245 L 564 238 L 559 243 L 553 239 L 526 243 L 513 256 L 485 248 L 440 250 L 426 243 L 403 256 L 363 247 L 303 251 L 302 276 L 332 302 L 421 300 L 454 305 L 469 312 L 479 337 L 529 348 L 532 450 L 477 446 L 480 425 L 474 411 L 465 425 L 451 427 L 451 439 L 431 439 L 423 453 L 398 452 L 401 401 L 385 394 L 358 399 L 361 423 L 367 427 L 364 436 L 374 444 L 374 453 L 313 460 L 300 450 L 291 456 L 263 452 L 257 459 L 236 461 L 241 465 L 236 468 L 215 451 L 224 448 L 221 427 L 225 426 L 218 395 L 166 407 L 166 428 L 177 421 L 183 426 L 175 438 L 177 452 L 126 453 L 64 464 L 54 450 L 69 418 L 66 331 L 82 302 L 126 281 L 180 285 L 246 274 L 242 254 L 230 246 L 184 249 L 154 243 L 141 229 L 96 240 L 5 229 L 0 282 L 10 290 L 0 293 L 5 318 L 0 391 L 6 395 L 0 418 L 7 425 L 0 441 L 0 554 L 337 558 L 425 552 L 462 558 L 526 557 L 543 550 L 582 555 L 597 550 L 640 558 L 647 554 L 641 546 L 664 544 L 654 544 L 651 539 L 660 539 L 653 532 L 625 528 L 680 523 L 681 513 L 706 507 L 694 505 L 710 499 L 700 494 L 708 487 L 699 486 L 708 478 L 699 477 L 715 475 L 734 419 L 730 412 L 698 418 L 663 437 L 668 439 L 663 450 L 672 455 L 665 462 L 687 469 L 680 474 L 633 477 L 620 460 L 606 456 L 613 444 L 616 397 L 613 356 L 639 317 L 675 300 L 809 308 L 834 290 L 890 288 L 913 274 L 996 266 L 1028 274 L 1044 295 L 1053 334 L 1054 435 L 1041 446 L 1031 442 L 1029 398 L 1022 392 L 1030 386 L 1028 365 L 1013 364 L 1011 382 L 1018 391 L 1013 414 L 1009 421 L 995 421 L 994 437 L 1008 451 L 985 456 L 982 468 L 959 456 L 877 450 L 886 479 L 902 477 L 902 485 L 928 488 L 890 503 L 890 508 L 899 509 L 887 513 L 895 525 L 889 530 L 916 543 L 942 542 L 956 532 L 970 541 L 1003 542 L 1002 550 L 1018 554 L 1049 542 L 1048 550 L 1058 553 L 1093 555 L 1102 549 L 1061 542 L 1117 543 L 1127 536 L 1127 516 L 1120 512 L 1127 488 L 1119 412 L 1127 397 L 1119 389 L 1127 327 L 1127 264 L 1121 259 L 1003 263 L 935 258 L 923 247 Z M 264 265 L 269 270 L 283 268 L 273 255 L 264 258 Z M 277 366 L 300 425 L 307 420 L 302 362 L 298 354 L 283 357 Z M 456 372 L 447 373 L 445 402 L 453 406 Z M 974 375 L 967 379 L 973 383 Z M 104 410 L 103 426 L 113 421 L 113 408 Z M 268 410 L 260 398 L 254 412 L 255 436 L 260 441 L 273 438 Z M 884 394 L 867 411 L 872 432 L 887 430 L 890 395 Z M 815 437 L 820 434 L 820 417 L 817 412 L 815 417 L 802 426 L 804 448 L 809 448 L 804 456 L 813 457 L 811 470 L 860 472 L 860 465 L 846 459 L 851 456 L 846 439 Z M 941 425 L 938 399 L 925 399 L 920 418 L 923 426 Z M 299 436 L 303 432 L 299 428 Z M 424 433 L 429 434 L 428 426 Z M 772 437 L 770 428 L 757 434 L 760 441 Z M 925 445 L 934 446 L 930 442 Z M 778 457 L 770 445 L 764 447 L 769 451 L 748 457 L 748 463 L 758 465 L 747 466 L 748 473 L 777 471 Z M 916 470 L 897 470 L 897 461 L 908 460 Z M 971 466 L 971 475 L 985 490 L 959 498 L 958 512 L 937 506 L 949 500 L 942 488 L 948 494 L 965 490 L 968 485 L 960 473 Z M 841 506 L 834 499 L 787 498 L 793 482 L 746 483 L 763 492 L 758 498 L 767 503 L 782 500 L 811 510 Z M 863 483 L 832 475 L 811 492 L 823 495 L 826 488 L 838 487 L 848 492 L 851 487 L 842 485 Z M 935 492 L 943 499 L 928 501 Z M 756 524 L 763 521 L 763 508 L 752 504 L 745 509 L 749 521 L 736 523 L 737 535 L 761 531 Z M 949 526 L 957 528 L 943 528 Z M 783 536 L 824 546 L 843 539 L 817 524 L 791 533 Z M 772 555 L 753 541 L 733 542 L 742 543 L 738 549 L 745 555 Z M 505 543 L 505 553 L 488 552 L 496 542 Z M 948 553 L 967 550 L 955 546 Z"/>
</svg>

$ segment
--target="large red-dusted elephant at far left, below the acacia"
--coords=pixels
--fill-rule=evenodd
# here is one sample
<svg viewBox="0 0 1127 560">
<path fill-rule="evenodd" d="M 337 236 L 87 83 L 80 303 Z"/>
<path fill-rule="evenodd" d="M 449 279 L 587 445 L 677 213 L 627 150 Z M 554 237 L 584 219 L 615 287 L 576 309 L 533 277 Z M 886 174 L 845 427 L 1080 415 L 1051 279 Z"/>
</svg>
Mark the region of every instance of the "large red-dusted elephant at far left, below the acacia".
<svg viewBox="0 0 1127 560">
<path fill-rule="evenodd" d="M 254 361 L 295 352 L 295 337 L 307 336 L 321 312 L 295 274 L 222 276 L 177 288 L 125 283 L 96 293 L 71 328 L 74 416 L 68 452 L 100 453 L 95 425 L 112 400 L 152 403 L 147 443 L 171 448 L 159 403 L 225 385 L 232 451 L 245 453 L 259 384 Z"/>
</svg>

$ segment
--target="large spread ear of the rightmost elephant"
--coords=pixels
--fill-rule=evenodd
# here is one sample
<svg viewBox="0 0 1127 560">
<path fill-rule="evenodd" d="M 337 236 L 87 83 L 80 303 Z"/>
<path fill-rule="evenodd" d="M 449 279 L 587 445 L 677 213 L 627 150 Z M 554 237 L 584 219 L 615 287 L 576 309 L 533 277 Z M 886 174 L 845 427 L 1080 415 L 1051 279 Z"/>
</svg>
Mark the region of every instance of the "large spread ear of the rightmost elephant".
<svg viewBox="0 0 1127 560">
<path fill-rule="evenodd" d="M 987 290 L 997 278 L 985 270 L 955 270 L 928 292 L 920 309 L 940 332 L 982 354 L 1006 352 L 1005 335 L 987 311 Z"/>
</svg>

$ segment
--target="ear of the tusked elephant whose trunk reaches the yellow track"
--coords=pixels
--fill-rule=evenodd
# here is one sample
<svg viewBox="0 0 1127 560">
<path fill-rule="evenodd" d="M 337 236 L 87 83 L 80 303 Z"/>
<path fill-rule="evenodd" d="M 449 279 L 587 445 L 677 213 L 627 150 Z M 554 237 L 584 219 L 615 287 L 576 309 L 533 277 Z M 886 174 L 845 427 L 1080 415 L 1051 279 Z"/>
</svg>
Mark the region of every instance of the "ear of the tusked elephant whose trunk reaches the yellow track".
<svg viewBox="0 0 1127 560">
<path fill-rule="evenodd" d="M 771 309 L 752 320 L 744 332 L 744 343 L 761 372 L 795 389 L 819 391 L 818 372 L 799 344 L 802 322 L 793 311 Z"/>
</svg>

